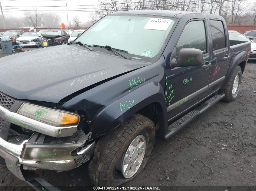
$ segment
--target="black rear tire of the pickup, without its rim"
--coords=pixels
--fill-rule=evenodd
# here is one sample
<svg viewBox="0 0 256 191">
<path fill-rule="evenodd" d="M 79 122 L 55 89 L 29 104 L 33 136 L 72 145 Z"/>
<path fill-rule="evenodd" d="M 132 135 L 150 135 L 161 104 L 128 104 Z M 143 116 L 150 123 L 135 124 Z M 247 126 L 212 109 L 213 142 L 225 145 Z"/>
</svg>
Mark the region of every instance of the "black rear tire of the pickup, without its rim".
<svg viewBox="0 0 256 191">
<path fill-rule="evenodd" d="M 232 94 L 234 80 L 235 80 L 235 77 L 236 77 L 237 74 L 238 74 L 238 77 L 239 77 L 238 88 L 237 88 L 235 94 Z M 223 99 L 222 99 L 223 101 L 231 102 L 231 101 L 235 100 L 235 98 L 237 97 L 239 88 L 240 88 L 241 80 L 242 80 L 241 67 L 237 66 L 234 69 L 234 72 L 231 75 L 231 77 L 228 79 L 228 84 L 226 85 L 226 87 L 224 87 L 223 89 L 220 90 L 220 93 L 225 94 L 225 97 L 223 97 Z"/>
</svg>

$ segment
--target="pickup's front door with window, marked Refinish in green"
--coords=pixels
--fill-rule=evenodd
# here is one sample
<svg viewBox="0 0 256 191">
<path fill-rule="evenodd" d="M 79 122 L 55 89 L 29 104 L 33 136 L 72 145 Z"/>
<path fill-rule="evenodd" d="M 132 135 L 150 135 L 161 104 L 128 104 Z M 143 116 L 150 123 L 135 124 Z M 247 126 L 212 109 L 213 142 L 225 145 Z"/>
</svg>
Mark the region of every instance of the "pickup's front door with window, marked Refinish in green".
<svg viewBox="0 0 256 191">
<path fill-rule="evenodd" d="M 178 115 L 193 105 L 202 94 L 206 94 L 211 67 L 204 67 L 210 62 L 206 38 L 205 20 L 197 19 L 188 22 L 176 44 L 176 57 L 181 48 L 196 48 L 203 53 L 203 62 L 199 66 L 177 67 L 166 69 L 165 101 L 168 117 Z M 193 62 L 193 56 L 188 62 Z"/>
</svg>

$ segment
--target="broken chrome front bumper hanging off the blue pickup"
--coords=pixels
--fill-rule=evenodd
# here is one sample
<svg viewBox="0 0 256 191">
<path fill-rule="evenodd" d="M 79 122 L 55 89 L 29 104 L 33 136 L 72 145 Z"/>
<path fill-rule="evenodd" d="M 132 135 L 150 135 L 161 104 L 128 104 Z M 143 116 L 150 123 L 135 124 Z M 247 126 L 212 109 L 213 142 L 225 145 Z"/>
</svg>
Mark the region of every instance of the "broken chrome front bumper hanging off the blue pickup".
<svg viewBox="0 0 256 191">
<path fill-rule="evenodd" d="M 70 144 L 50 144 L 55 146 L 55 149 L 62 148 L 63 145 L 68 148 L 78 147 L 75 156 L 73 159 L 69 160 L 52 160 L 52 156 L 44 155 L 43 161 L 25 161 L 22 159 L 22 156 L 25 153 L 24 148 L 26 146 L 31 146 L 31 138 L 28 140 L 16 140 L 16 143 L 11 143 L 14 140 L 5 141 L 0 137 L 0 156 L 5 158 L 6 166 L 8 169 L 15 174 L 19 179 L 25 180 L 22 176 L 20 167 L 23 170 L 37 170 L 37 169 L 47 169 L 47 170 L 55 170 L 58 172 L 71 170 L 80 166 L 83 162 L 88 161 L 89 157 L 94 151 L 95 142 L 91 142 L 88 145 L 85 145 L 85 142 L 90 137 L 90 133 L 88 135 L 83 136 L 83 141 L 78 143 L 70 143 Z M 20 142 L 20 144 L 18 143 Z M 33 148 L 37 148 L 35 142 L 32 143 Z M 47 146 L 48 144 L 42 144 Z M 49 146 L 49 145 L 48 145 Z M 79 149 L 79 151 L 78 151 Z M 41 152 L 42 153 L 42 152 Z M 36 153 L 35 153 L 36 154 Z M 42 154 L 41 154 L 42 155 Z"/>
</svg>

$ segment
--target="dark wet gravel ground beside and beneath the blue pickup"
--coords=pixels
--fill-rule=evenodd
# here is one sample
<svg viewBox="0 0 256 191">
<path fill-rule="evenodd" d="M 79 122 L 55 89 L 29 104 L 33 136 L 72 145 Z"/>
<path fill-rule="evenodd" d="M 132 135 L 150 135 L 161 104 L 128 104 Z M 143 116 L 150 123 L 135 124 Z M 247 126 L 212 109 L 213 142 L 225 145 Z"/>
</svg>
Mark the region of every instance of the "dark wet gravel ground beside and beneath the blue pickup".
<svg viewBox="0 0 256 191">
<path fill-rule="evenodd" d="M 125 186 L 256 186 L 255 74 L 256 62 L 250 61 L 235 101 L 220 101 L 167 141 L 157 138 L 148 164 Z M 70 191 L 77 190 L 75 186 L 91 186 L 87 166 L 38 173 Z M 4 164 L 0 164 L 0 180 L 0 190 L 34 190 Z"/>
</svg>

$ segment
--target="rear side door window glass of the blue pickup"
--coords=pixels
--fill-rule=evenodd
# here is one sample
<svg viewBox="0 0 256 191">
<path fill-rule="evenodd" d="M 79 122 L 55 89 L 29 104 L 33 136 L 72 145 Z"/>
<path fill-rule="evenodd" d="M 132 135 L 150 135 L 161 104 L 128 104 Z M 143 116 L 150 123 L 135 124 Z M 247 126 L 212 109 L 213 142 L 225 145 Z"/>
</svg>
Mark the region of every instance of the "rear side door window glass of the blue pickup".
<svg viewBox="0 0 256 191">
<path fill-rule="evenodd" d="M 225 48 L 226 37 L 222 21 L 210 20 L 210 25 L 213 50 Z"/>
</svg>

